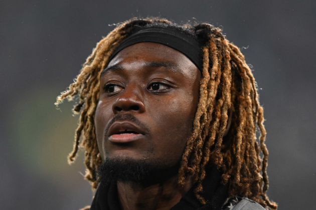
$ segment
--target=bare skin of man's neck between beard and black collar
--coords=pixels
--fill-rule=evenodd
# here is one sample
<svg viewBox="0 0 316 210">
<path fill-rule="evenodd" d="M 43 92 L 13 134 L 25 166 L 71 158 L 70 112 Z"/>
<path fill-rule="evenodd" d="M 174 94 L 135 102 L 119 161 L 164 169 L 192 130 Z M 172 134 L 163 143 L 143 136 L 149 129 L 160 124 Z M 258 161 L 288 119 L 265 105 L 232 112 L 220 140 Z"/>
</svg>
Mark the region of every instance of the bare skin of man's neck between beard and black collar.
<svg viewBox="0 0 316 210">
<path fill-rule="evenodd" d="M 178 186 L 177 175 L 164 183 L 142 186 L 130 182 L 117 181 L 117 192 L 123 210 L 167 210 L 176 205 L 192 187 L 188 179 L 183 188 Z"/>
</svg>

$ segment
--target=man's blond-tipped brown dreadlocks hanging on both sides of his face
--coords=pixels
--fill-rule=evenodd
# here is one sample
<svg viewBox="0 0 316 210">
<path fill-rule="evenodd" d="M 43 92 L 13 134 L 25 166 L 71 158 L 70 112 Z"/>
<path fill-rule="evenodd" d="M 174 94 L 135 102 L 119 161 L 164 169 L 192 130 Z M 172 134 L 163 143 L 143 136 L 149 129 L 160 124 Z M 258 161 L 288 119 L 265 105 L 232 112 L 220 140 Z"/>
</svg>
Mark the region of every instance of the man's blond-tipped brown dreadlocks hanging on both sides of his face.
<svg viewBox="0 0 316 210">
<path fill-rule="evenodd" d="M 226 39 L 220 28 L 208 23 L 178 25 L 163 18 L 132 18 L 118 24 L 97 43 L 74 82 L 55 103 L 58 106 L 64 99 L 78 96 L 73 112 L 80 113 L 80 118 L 69 163 L 75 160 L 78 148 L 83 147 L 85 178 L 92 182 L 92 188 L 97 187 L 96 169 L 102 164 L 102 158 L 97 147 L 94 115 L 100 73 L 115 48 L 135 29 L 155 25 L 177 28 L 203 45 L 200 97 L 192 135 L 182 156 L 179 185 L 183 186 L 186 177 L 191 175 L 196 182 L 195 196 L 205 204 L 202 181 L 211 162 L 222 171 L 221 180 L 228 184 L 229 196 L 246 196 L 264 207 L 276 209 L 277 204 L 266 194 L 268 150 L 255 79 L 240 49 Z M 231 126 L 225 135 L 230 112 Z M 260 133 L 259 140 L 256 131 Z"/>
</svg>

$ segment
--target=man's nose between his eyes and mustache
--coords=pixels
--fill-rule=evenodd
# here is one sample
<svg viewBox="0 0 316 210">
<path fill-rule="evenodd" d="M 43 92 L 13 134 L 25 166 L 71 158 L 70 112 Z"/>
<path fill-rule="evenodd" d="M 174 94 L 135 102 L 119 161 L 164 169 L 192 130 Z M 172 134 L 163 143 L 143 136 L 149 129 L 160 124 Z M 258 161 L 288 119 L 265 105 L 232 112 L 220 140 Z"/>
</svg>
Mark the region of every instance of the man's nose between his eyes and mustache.
<svg viewBox="0 0 316 210">
<path fill-rule="evenodd" d="M 122 111 L 144 112 L 145 105 L 139 88 L 136 88 L 135 85 L 129 85 L 129 87 L 126 87 L 113 103 L 112 110 L 114 113 Z"/>
</svg>

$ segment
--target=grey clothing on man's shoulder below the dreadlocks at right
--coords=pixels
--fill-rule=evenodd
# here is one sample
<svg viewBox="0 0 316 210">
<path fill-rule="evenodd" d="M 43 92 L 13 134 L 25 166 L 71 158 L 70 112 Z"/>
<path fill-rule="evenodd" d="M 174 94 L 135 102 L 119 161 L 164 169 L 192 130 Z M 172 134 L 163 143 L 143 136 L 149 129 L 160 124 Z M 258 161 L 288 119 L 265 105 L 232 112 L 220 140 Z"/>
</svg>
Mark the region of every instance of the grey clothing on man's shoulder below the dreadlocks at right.
<svg viewBox="0 0 316 210">
<path fill-rule="evenodd" d="M 223 205 L 223 210 L 264 210 L 259 203 L 247 197 L 232 197 L 227 199 Z"/>
</svg>

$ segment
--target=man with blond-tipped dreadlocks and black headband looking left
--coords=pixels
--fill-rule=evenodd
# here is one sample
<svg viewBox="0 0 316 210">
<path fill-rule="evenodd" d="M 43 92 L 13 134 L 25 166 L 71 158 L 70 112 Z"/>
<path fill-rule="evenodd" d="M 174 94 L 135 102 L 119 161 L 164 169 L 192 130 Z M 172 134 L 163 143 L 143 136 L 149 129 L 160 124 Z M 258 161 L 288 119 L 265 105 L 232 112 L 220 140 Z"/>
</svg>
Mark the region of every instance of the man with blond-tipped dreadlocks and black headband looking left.
<svg viewBox="0 0 316 210">
<path fill-rule="evenodd" d="M 56 104 L 76 95 L 87 209 L 276 209 L 255 80 L 219 28 L 125 21 Z"/>
</svg>

